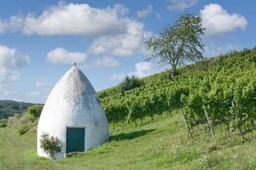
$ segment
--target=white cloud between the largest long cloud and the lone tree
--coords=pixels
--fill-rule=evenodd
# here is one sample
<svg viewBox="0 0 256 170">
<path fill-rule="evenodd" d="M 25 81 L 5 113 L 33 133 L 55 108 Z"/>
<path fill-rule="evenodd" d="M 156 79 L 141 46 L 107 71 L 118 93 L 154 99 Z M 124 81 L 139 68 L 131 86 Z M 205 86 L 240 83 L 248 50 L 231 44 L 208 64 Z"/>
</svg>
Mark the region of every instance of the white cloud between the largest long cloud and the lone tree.
<svg viewBox="0 0 256 170">
<path fill-rule="evenodd" d="M 119 35 L 96 38 L 88 48 L 90 54 L 128 57 L 143 54 L 144 42 L 151 32 L 144 31 L 143 24 L 134 20 L 126 20 L 127 32 Z"/>
</svg>

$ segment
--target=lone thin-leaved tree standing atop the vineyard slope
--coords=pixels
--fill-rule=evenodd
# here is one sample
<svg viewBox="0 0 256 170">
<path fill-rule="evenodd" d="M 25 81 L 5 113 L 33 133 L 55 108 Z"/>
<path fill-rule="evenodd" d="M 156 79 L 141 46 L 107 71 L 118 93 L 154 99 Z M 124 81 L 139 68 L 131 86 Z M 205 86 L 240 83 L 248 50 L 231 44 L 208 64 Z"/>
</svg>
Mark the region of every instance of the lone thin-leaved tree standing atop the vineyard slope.
<svg viewBox="0 0 256 170">
<path fill-rule="evenodd" d="M 156 60 L 160 66 L 171 65 L 170 78 L 174 80 L 178 65 L 203 59 L 204 32 L 200 16 L 182 14 L 172 26 L 145 42 L 153 53 L 147 60 Z"/>
</svg>

